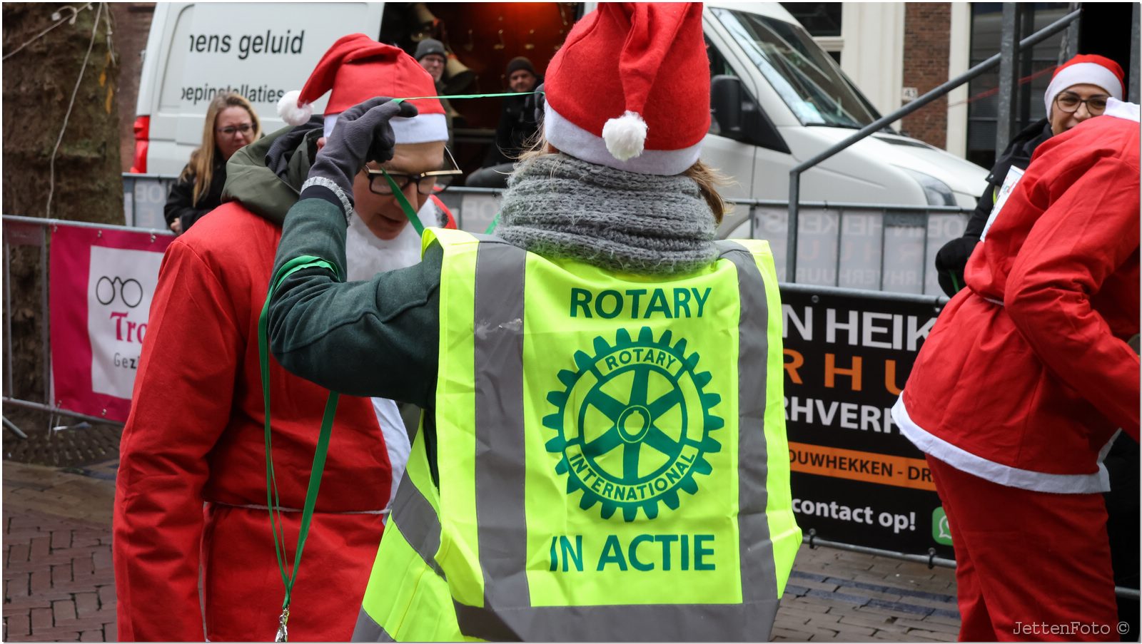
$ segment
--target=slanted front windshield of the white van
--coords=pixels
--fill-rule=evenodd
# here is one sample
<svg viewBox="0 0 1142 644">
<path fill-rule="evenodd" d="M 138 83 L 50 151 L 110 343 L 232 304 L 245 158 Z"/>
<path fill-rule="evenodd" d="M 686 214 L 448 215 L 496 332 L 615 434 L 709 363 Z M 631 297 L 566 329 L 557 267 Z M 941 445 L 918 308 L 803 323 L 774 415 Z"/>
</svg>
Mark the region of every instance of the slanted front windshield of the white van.
<svg viewBox="0 0 1142 644">
<path fill-rule="evenodd" d="M 802 124 L 862 128 L 879 118 L 801 26 L 733 9 L 711 10 Z"/>
</svg>

